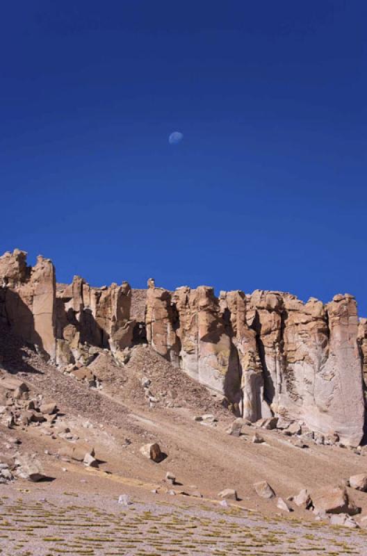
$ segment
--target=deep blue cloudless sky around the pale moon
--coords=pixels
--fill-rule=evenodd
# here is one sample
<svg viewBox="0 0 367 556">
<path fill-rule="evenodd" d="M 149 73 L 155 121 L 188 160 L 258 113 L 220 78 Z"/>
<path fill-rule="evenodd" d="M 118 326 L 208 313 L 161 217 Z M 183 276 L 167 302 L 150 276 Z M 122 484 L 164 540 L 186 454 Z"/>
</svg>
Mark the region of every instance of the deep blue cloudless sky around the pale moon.
<svg viewBox="0 0 367 556">
<path fill-rule="evenodd" d="M 367 316 L 366 16 L 3 3 L 1 252 L 51 257 L 58 281 L 349 292 Z"/>
</svg>

